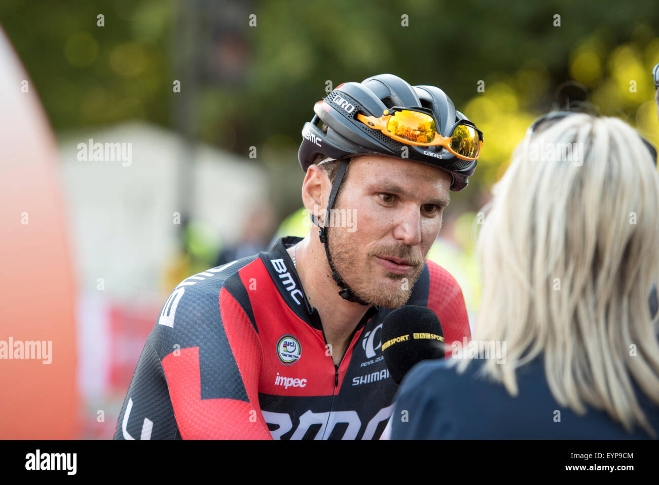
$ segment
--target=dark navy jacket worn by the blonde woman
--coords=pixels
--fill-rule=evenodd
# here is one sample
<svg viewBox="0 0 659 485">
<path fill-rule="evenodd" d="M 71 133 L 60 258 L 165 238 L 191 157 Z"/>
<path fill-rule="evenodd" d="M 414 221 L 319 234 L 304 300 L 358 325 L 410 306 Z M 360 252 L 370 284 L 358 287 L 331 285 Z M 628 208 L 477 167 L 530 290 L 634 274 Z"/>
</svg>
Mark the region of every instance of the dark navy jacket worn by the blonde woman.
<svg viewBox="0 0 659 485">
<path fill-rule="evenodd" d="M 556 403 L 541 357 L 517 370 L 517 397 L 477 377 L 481 365 L 474 360 L 458 374 L 445 360 L 416 364 L 397 391 L 391 439 L 650 439 L 639 427 L 627 434 L 606 412 L 590 408 L 579 416 Z M 659 406 L 635 389 L 659 436 Z"/>
</svg>

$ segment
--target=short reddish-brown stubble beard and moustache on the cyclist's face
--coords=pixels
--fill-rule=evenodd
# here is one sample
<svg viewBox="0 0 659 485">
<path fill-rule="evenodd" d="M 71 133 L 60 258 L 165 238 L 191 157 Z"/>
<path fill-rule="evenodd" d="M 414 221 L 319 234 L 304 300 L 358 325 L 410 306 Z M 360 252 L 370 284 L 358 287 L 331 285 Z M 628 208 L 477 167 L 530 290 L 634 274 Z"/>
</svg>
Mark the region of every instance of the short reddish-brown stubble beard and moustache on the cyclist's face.
<svg viewBox="0 0 659 485">
<path fill-rule="evenodd" d="M 413 254 L 411 247 L 397 245 L 376 247 L 374 249 L 375 253 L 368 253 L 366 261 L 364 261 L 361 259 L 362 255 L 355 250 L 351 235 L 343 229 L 333 226 L 327 228 L 328 249 L 334 269 L 343 278 L 351 292 L 371 305 L 387 308 L 398 308 L 405 305 L 409 300 L 416 280 L 421 274 L 424 260 L 418 259 Z M 398 284 L 392 286 L 386 282 L 378 281 L 372 275 L 368 261 L 373 261 L 374 254 L 400 257 L 418 264 L 405 275 L 385 271 L 384 277 L 387 280 L 397 280 L 398 282 Z M 378 264 L 378 266 L 380 265 Z M 405 282 L 405 278 L 407 278 L 407 282 Z"/>
</svg>

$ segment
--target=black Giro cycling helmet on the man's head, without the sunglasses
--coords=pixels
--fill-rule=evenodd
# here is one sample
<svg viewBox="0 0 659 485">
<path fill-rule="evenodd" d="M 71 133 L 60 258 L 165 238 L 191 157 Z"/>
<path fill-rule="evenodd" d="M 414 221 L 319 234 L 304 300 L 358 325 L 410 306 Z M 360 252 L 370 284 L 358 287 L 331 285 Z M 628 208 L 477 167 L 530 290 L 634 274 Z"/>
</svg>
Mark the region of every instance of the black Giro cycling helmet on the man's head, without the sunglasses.
<svg viewBox="0 0 659 485">
<path fill-rule="evenodd" d="M 469 183 L 476 160 L 463 160 L 443 146 L 415 146 L 395 141 L 357 119 L 357 113 L 380 117 L 394 106 L 421 108 L 432 112 L 440 135 L 448 137 L 457 121 L 470 121 L 456 111 L 451 98 L 436 86 L 411 86 L 393 74 L 380 74 L 362 82 L 339 84 L 314 105 L 313 119 L 304 124 L 298 159 L 302 170 L 322 154 L 335 160 L 368 154 L 400 158 L 407 146 L 407 158 L 451 174 L 451 190 L 459 191 Z M 321 123 L 322 122 L 322 123 Z M 319 125 L 327 125 L 325 133 Z"/>
</svg>

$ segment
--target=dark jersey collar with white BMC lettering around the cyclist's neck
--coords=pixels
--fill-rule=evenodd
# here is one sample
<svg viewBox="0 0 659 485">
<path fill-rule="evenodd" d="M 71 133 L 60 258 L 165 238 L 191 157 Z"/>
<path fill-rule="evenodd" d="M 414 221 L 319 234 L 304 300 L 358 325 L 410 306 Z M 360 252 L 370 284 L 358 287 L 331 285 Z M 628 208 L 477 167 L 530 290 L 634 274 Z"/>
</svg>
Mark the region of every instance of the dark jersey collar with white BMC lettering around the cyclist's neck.
<svg viewBox="0 0 659 485">
<path fill-rule="evenodd" d="M 258 256 L 268 270 L 268 274 L 275 283 L 281 298 L 283 298 L 289 308 L 298 317 L 314 327 L 314 329 L 322 330 L 318 310 L 312 307 L 306 299 L 300 278 L 297 275 L 297 271 L 295 271 L 295 267 L 293 267 L 293 261 L 286 251 L 287 247 L 291 247 L 301 240 L 302 238 L 296 236 L 280 238 L 269 252 L 262 251 Z M 378 306 L 369 307 L 357 325 L 356 330 L 366 325 L 366 322 L 378 313 L 378 311 L 380 311 L 380 307 Z"/>
</svg>

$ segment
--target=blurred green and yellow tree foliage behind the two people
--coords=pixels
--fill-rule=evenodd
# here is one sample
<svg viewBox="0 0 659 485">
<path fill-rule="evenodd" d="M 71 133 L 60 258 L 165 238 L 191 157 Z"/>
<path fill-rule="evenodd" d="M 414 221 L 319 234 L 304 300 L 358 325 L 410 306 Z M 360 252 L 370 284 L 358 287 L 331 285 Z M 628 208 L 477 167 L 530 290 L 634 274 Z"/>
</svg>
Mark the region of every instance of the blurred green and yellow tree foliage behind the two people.
<svg viewBox="0 0 659 485">
<path fill-rule="evenodd" d="M 444 89 L 485 134 L 471 185 L 453 197 L 461 210 L 480 207 L 536 115 L 584 89 L 659 142 L 656 0 L 237 4 L 3 0 L 0 24 L 55 131 L 141 119 L 244 156 L 256 146 L 280 216 L 300 205 L 300 132 L 328 81 L 388 72 Z M 223 77 L 227 62 L 237 75 Z"/>
</svg>

